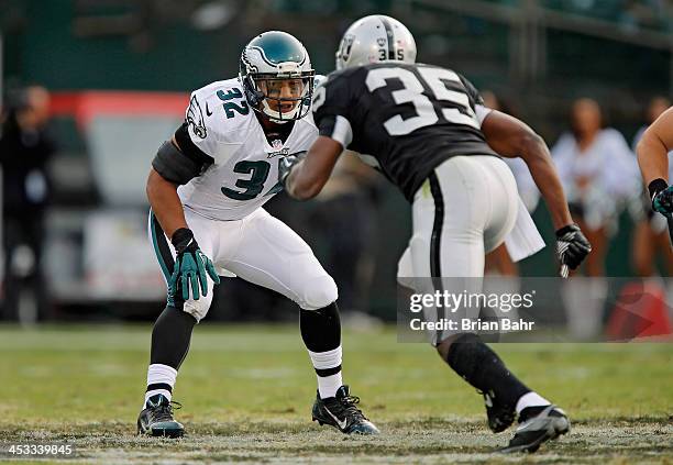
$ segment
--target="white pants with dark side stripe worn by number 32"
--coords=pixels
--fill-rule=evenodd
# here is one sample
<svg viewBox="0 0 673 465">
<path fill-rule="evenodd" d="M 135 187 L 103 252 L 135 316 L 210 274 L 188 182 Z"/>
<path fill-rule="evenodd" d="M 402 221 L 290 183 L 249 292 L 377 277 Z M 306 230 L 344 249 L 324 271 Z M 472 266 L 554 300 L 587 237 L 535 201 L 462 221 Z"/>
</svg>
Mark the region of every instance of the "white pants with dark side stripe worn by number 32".
<svg viewBox="0 0 673 465">
<path fill-rule="evenodd" d="M 311 247 L 266 210 L 258 208 L 242 220 L 218 221 L 185 209 L 185 219 L 220 276 L 239 276 L 275 290 L 305 310 L 318 310 L 336 300 L 336 285 Z M 167 281 L 175 250 L 152 212 L 150 240 Z M 184 311 L 197 321 L 206 317 L 212 302 L 212 288 L 213 283 L 208 278 L 208 295 L 187 300 Z"/>
</svg>

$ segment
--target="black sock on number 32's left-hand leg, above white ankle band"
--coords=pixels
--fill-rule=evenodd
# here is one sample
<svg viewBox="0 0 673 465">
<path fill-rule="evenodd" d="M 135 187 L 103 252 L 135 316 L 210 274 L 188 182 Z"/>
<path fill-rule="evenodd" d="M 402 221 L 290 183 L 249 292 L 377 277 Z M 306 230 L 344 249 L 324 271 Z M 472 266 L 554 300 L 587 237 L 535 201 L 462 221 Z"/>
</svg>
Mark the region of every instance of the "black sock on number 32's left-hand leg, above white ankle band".
<svg viewBox="0 0 673 465">
<path fill-rule="evenodd" d="M 168 365 L 177 370 L 189 351 L 196 322 L 189 313 L 166 307 L 152 330 L 150 364 Z"/>
</svg>

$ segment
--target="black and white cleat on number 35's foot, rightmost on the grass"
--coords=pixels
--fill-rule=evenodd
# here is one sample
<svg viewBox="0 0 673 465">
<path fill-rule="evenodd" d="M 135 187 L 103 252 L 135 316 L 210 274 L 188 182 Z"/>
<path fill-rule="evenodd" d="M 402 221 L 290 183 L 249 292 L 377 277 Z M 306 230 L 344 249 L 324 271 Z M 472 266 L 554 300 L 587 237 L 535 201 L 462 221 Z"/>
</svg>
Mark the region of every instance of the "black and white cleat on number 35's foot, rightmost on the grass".
<svg viewBox="0 0 673 465">
<path fill-rule="evenodd" d="M 539 408 L 529 407 L 528 409 Z M 530 418 L 526 416 L 528 409 L 523 409 L 521 412 L 520 424 L 517 427 L 514 438 L 499 452 L 536 452 L 543 442 L 554 440 L 570 431 L 570 420 L 559 407 L 543 407 L 542 411 Z"/>
</svg>

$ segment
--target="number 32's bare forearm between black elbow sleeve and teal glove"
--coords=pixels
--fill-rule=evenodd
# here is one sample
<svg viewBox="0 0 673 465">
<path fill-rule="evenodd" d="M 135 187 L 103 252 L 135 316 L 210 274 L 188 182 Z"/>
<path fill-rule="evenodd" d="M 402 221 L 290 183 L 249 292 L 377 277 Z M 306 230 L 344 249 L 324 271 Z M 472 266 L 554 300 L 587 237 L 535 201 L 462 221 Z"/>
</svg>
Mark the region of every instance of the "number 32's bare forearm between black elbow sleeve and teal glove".
<svg viewBox="0 0 673 465">
<path fill-rule="evenodd" d="M 180 228 L 188 228 L 177 186 L 164 179 L 154 168 L 150 171 L 146 186 L 147 199 L 162 229 L 170 239 Z"/>
</svg>

